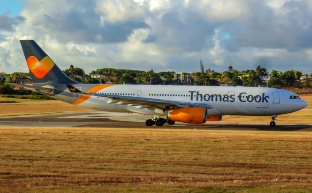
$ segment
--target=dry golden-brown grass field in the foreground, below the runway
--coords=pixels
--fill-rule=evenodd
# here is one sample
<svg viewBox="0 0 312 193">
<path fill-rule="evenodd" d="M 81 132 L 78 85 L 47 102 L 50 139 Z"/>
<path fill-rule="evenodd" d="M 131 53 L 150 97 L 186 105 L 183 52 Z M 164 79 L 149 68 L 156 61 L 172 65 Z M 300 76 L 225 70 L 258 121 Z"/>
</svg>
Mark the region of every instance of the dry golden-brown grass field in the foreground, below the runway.
<svg viewBox="0 0 312 193">
<path fill-rule="evenodd" d="M 312 133 L 0 128 L 0 192 L 312 192 Z"/>
</svg>

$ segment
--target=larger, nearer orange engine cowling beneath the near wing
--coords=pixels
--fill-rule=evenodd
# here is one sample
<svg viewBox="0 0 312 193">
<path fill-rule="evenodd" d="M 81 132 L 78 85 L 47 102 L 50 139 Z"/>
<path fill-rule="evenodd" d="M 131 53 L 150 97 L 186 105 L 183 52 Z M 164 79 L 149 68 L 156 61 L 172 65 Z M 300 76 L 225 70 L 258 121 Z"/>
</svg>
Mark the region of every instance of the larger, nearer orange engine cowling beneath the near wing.
<svg viewBox="0 0 312 193">
<path fill-rule="evenodd" d="M 183 107 L 170 110 L 168 118 L 182 123 L 206 123 L 207 109 L 203 107 Z"/>
</svg>

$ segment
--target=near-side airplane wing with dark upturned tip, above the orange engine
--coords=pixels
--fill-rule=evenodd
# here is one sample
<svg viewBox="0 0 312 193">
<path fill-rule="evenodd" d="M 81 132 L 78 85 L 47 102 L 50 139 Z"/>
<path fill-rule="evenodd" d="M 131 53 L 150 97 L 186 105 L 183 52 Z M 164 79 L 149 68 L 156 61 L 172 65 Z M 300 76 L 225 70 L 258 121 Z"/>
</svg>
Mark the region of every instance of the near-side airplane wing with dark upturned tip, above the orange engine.
<svg viewBox="0 0 312 193">
<path fill-rule="evenodd" d="M 207 109 L 212 109 L 214 107 L 207 105 L 205 103 L 192 103 L 192 102 L 181 102 L 181 101 L 173 101 L 166 99 L 152 99 L 152 98 L 144 98 L 144 97 L 136 97 L 136 96 L 124 96 L 124 95 L 110 95 L 110 94 L 100 94 L 100 93 L 90 93 L 90 92 L 82 92 L 78 88 L 75 88 L 72 85 L 66 85 L 71 92 L 81 93 L 92 96 L 99 97 L 107 97 L 111 98 L 107 103 L 117 105 L 130 105 L 136 106 L 137 108 L 153 108 L 158 107 L 162 109 L 166 109 L 167 106 L 178 106 L 178 107 L 204 107 Z"/>
</svg>

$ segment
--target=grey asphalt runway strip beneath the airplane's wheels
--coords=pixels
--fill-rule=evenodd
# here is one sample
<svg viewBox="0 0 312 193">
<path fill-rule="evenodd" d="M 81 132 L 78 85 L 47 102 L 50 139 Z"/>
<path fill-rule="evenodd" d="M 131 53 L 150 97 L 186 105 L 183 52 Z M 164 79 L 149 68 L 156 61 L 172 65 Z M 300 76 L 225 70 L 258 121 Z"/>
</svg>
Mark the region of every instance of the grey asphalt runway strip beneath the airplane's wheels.
<svg viewBox="0 0 312 193">
<path fill-rule="evenodd" d="M 37 115 L 0 117 L 0 126 L 15 127 L 94 127 L 94 128 L 136 128 L 136 129 L 209 129 L 209 130 L 271 130 L 271 131 L 312 131 L 311 124 L 278 124 L 275 127 L 263 123 L 229 124 L 207 122 L 206 124 L 165 124 L 162 127 L 147 127 L 146 115 L 103 111 L 64 112 Z"/>
</svg>

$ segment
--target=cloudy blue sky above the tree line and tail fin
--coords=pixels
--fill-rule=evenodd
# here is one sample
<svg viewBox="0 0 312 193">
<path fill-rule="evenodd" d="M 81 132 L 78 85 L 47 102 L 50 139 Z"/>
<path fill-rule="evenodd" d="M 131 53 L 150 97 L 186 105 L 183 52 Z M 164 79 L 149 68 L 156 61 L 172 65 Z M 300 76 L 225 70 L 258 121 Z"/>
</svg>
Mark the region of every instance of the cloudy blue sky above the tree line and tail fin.
<svg viewBox="0 0 312 193">
<path fill-rule="evenodd" d="M 0 0 L 0 72 L 27 72 L 19 40 L 61 69 L 176 72 L 257 65 L 312 72 L 312 0 Z"/>
</svg>

